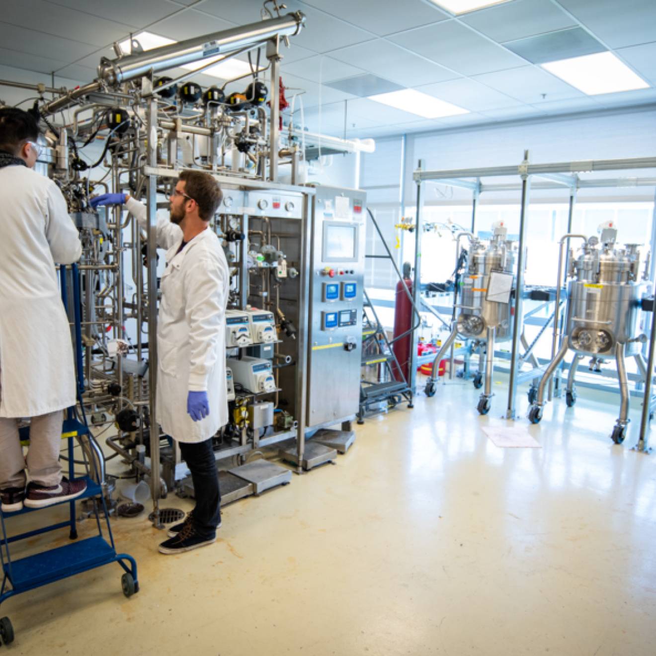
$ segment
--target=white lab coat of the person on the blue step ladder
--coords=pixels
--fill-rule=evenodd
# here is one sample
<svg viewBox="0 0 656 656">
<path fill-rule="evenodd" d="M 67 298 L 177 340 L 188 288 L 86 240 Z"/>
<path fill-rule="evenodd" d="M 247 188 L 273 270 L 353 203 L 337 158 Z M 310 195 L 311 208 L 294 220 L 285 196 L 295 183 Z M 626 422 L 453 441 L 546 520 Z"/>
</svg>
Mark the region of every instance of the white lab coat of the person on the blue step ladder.
<svg viewBox="0 0 656 656">
<path fill-rule="evenodd" d="M 82 254 L 58 186 L 28 167 L 0 169 L 0 417 L 75 403 L 75 366 L 55 262 Z"/>
</svg>

